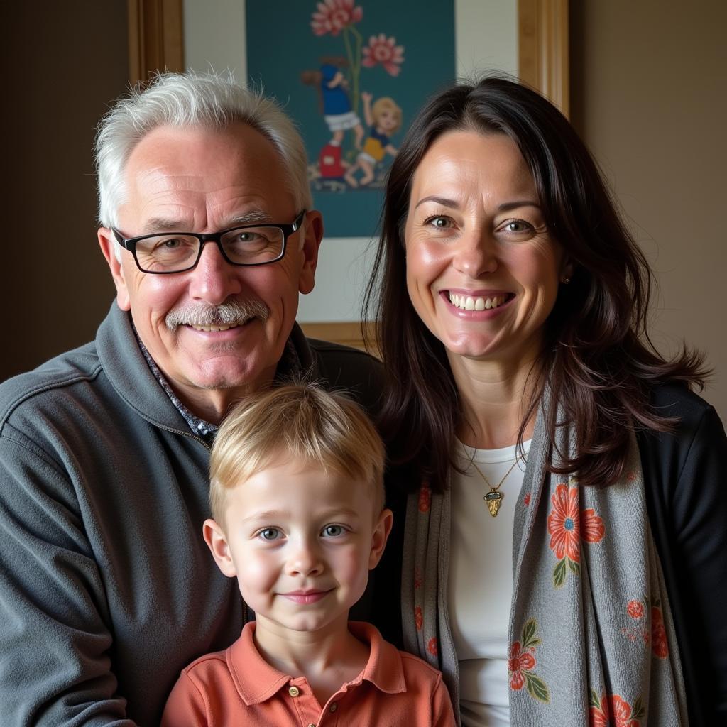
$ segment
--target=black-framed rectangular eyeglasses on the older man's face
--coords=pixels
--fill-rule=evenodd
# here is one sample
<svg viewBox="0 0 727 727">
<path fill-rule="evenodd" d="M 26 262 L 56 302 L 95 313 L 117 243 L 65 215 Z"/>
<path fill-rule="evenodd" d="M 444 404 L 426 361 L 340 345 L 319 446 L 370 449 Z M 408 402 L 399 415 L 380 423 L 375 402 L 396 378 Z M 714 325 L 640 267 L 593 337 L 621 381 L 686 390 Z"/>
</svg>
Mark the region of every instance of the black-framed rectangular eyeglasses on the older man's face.
<svg viewBox="0 0 727 727">
<path fill-rule="evenodd" d="M 243 225 L 209 235 L 170 232 L 125 238 L 116 228 L 111 228 L 111 231 L 119 245 L 134 256 L 142 273 L 169 275 L 192 270 L 207 242 L 217 243 L 222 257 L 230 265 L 268 265 L 281 260 L 288 238 L 300 230 L 305 212 L 304 209 L 292 225 Z"/>
</svg>

